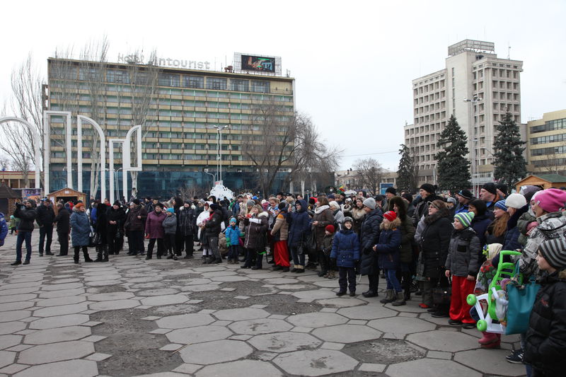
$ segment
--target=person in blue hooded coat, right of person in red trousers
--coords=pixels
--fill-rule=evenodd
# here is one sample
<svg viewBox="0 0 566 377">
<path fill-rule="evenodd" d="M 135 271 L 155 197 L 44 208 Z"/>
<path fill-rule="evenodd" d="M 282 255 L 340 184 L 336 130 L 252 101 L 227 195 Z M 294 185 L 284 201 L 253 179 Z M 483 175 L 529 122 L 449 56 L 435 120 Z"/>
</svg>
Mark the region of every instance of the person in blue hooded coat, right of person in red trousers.
<svg viewBox="0 0 566 377">
<path fill-rule="evenodd" d="M 289 238 L 287 245 L 293 258 L 291 272 L 305 272 L 306 243 L 311 236 L 311 217 L 308 216 L 308 204 L 304 199 L 295 202 L 295 211 L 287 216 L 289 222 Z"/>
</svg>

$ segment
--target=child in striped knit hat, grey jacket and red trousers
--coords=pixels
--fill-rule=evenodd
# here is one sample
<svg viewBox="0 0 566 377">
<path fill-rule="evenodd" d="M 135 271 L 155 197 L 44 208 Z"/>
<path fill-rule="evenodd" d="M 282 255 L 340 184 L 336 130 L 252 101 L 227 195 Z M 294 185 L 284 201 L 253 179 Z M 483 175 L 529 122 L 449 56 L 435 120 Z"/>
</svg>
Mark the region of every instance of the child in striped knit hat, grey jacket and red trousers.
<svg viewBox="0 0 566 377">
<path fill-rule="evenodd" d="M 454 216 L 454 232 L 450 239 L 446 258 L 446 277 L 452 275 L 452 297 L 450 301 L 450 325 L 462 325 L 463 328 L 475 327 L 475 320 L 470 316 L 470 306 L 466 302 L 468 294 L 473 294 L 475 277 L 480 270 L 482 247 L 472 223 L 473 212 L 460 212 Z"/>
</svg>

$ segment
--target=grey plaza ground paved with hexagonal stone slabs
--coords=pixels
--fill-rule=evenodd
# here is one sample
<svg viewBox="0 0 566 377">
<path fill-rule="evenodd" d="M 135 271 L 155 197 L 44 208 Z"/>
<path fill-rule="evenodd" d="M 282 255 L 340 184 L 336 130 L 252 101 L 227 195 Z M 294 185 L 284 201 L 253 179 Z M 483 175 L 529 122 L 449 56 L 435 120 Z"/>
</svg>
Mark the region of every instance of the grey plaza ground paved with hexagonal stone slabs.
<svg viewBox="0 0 566 377">
<path fill-rule="evenodd" d="M 74 265 L 35 246 L 30 265 L 12 267 L 15 240 L 0 248 L 0 376 L 524 375 L 504 359 L 518 337 L 480 349 L 477 330 L 432 318 L 417 300 L 393 307 L 362 297 L 365 277 L 357 297 L 337 298 L 337 280 L 313 272 L 200 257 L 122 252 Z"/>
</svg>

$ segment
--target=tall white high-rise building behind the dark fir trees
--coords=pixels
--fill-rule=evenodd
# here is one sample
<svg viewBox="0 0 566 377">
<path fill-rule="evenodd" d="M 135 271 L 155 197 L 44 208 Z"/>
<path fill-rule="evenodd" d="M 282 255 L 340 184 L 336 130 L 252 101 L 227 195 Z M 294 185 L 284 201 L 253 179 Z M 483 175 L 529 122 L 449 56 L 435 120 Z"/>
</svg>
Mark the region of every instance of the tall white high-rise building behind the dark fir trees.
<svg viewBox="0 0 566 377">
<path fill-rule="evenodd" d="M 479 40 L 451 45 L 448 55 L 445 69 L 412 81 L 414 124 L 404 127 L 405 145 L 418 164 L 419 183 L 435 183 L 436 144 L 454 114 L 468 136 L 473 184 L 481 185 L 493 180 L 495 125 L 507 110 L 521 124 L 523 62 L 498 58 L 494 43 Z"/>
</svg>

